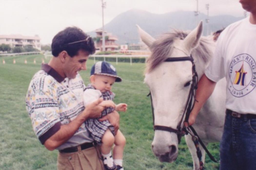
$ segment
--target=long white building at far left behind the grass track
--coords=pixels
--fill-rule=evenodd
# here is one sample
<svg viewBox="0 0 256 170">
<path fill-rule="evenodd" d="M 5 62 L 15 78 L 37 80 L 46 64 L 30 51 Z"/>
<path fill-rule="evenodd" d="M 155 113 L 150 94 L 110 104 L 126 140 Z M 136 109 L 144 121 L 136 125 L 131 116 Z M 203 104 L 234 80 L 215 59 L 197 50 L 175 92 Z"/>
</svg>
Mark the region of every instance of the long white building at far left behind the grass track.
<svg viewBox="0 0 256 170">
<path fill-rule="evenodd" d="M 41 51 L 40 37 L 38 35 L 0 35 L 0 44 L 9 44 L 12 48 L 32 46 Z"/>
</svg>

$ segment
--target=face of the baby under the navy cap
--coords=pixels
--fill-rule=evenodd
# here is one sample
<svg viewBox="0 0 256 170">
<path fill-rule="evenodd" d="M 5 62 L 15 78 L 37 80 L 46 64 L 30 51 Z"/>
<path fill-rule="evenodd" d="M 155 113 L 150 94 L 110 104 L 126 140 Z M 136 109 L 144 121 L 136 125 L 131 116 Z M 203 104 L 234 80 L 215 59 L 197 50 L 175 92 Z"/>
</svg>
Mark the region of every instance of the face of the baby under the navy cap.
<svg viewBox="0 0 256 170">
<path fill-rule="evenodd" d="M 105 91 L 110 91 L 112 85 L 115 83 L 116 77 L 108 75 L 94 74 L 94 81 L 91 82 L 93 87 L 97 90 L 100 90 L 101 93 Z"/>
</svg>

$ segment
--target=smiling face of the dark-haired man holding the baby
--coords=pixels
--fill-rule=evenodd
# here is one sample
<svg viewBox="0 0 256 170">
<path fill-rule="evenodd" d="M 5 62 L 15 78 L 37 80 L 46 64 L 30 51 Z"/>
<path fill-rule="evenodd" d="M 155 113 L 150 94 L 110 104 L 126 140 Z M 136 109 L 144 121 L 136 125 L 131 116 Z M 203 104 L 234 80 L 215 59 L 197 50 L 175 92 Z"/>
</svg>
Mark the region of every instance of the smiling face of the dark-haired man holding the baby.
<svg viewBox="0 0 256 170">
<path fill-rule="evenodd" d="M 88 57 L 89 53 L 83 50 L 79 50 L 76 56 L 70 57 L 68 55 L 63 68 L 66 77 L 74 79 L 80 70 L 86 70 Z"/>
</svg>

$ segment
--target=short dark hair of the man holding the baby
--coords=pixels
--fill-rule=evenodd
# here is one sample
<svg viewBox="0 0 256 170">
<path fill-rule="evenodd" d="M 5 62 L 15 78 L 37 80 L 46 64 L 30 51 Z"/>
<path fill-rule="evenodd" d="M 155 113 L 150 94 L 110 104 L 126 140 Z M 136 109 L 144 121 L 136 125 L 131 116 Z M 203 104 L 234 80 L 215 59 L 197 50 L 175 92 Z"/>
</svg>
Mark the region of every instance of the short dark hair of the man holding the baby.
<svg viewBox="0 0 256 170">
<path fill-rule="evenodd" d="M 91 37 L 77 27 L 67 27 L 58 32 L 52 39 L 52 55 L 57 57 L 61 51 L 67 51 L 70 57 L 78 54 L 79 50 L 95 53 L 94 42 Z"/>
</svg>

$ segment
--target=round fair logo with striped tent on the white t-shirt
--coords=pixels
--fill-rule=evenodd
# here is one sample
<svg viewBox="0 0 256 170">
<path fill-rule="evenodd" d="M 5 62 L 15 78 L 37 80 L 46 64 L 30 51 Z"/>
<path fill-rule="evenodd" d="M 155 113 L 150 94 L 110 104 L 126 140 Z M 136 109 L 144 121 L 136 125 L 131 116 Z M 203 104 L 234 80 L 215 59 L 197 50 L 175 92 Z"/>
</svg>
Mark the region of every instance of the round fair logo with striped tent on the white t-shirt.
<svg viewBox="0 0 256 170">
<path fill-rule="evenodd" d="M 256 63 L 248 54 L 234 57 L 229 65 L 228 89 L 235 97 L 249 94 L 256 86 Z"/>
</svg>

